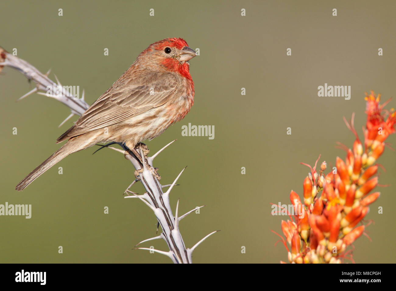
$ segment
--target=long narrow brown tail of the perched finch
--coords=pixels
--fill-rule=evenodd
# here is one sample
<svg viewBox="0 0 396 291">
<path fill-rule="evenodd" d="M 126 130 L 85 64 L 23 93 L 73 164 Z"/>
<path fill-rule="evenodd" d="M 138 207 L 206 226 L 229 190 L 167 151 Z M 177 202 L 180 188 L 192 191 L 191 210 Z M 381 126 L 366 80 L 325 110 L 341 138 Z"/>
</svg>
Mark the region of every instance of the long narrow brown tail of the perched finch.
<svg viewBox="0 0 396 291">
<path fill-rule="evenodd" d="M 77 152 L 79 150 L 83 150 L 91 145 L 86 145 L 86 143 L 81 143 L 78 137 L 74 137 L 70 139 L 65 145 L 63 145 L 59 150 L 54 152 L 47 160 L 42 162 L 41 165 L 36 167 L 33 171 L 30 172 L 17 186 L 16 190 L 21 191 L 25 189 L 30 183 L 32 183 L 35 179 L 37 179 L 42 173 L 47 171 L 50 167 L 55 165 L 57 162 L 68 156 L 73 152 Z"/>
</svg>

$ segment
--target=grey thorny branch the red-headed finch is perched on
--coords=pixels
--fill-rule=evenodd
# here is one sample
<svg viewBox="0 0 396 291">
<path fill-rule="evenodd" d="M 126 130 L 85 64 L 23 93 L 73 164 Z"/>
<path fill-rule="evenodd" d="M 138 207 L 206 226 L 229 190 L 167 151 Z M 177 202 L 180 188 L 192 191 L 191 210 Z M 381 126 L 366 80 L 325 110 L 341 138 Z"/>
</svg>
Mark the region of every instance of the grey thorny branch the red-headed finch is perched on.
<svg viewBox="0 0 396 291">
<path fill-rule="evenodd" d="M 74 97 L 65 87 L 62 87 L 61 83 L 55 75 L 54 76 L 57 80 L 57 83 L 53 82 L 48 78 L 49 71 L 46 74 L 42 74 L 37 68 L 30 65 L 30 63 L 28 63 L 27 61 L 19 59 L 18 57 L 8 53 L 0 47 L 0 72 L 4 66 L 19 70 L 19 72 L 24 74 L 26 78 L 32 80 L 36 84 L 34 89 L 20 97 L 18 100 L 21 100 L 32 93 L 38 93 L 40 95 L 57 99 L 59 102 L 70 108 L 71 114 L 59 126 L 63 125 L 72 116 L 79 116 L 83 114 L 89 107 L 89 105 L 84 100 L 84 91 L 82 93 L 82 98 L 78 99 Z M 54 88 L 56 88 L 56 91 L 54 91 Z M 173 142 L 174 141 L 172 141 L 171 143 Z M 148 242 L 150 240 L 162 238 L 163 240 L 165 240 L 169 247 L 168 252 L 156 249 L 149 249 L 145 247 L 139 247 L 137 249 L 146 249 L 150 251 L 155 251 L 163 255 L 167 255 L 174 263 L 191 263 L 192 251 L 194 251 L 194 249 L 206 238 L 208 238 L 218 230 L 208 234 L 193 247 L 185 247 L 183 238 L 179 230 L 179 221 L 181 221 L 181 219 L 186 217 L 188 214 L 203 206 L 192 209 L 184 215 L 179 216 L 179 201 L 177 201 L 176 215 L 173 216 L 169 204 L 169 193 L 172 190 L 173 186 L 175 186 L 177 179 L 179 179 L 185 168 L 180 172 L 180 174 L 171 185 L 162 186 L 158 181 L 158 175 L 156 174 L 156 171 L 154 171 L 154 167 L 152 165 L 154 158 L 156 158 L 156 156 L 158 156 L 158 154 L 160 154 L 160 152 L 162 152 L 162 150 L 164 150 L 171 143 L 164 146 L 156 154 L 150 157 L 147 156 L 148 149 L 144 144 L 139 144 L 134 149 L 129 149 L 125 145 L 119 144 L 122 147 L 122 150 L 110 147 L 108 145 L 107 147 L 124 154 L 125 158 L 128 159 L 136 169 L 135 175 L 138 175 L 138 178 L 135 179 L 126 189 L 127 194 L 131 193 L 133 195 L 128 194 L 129 196 L 126 196 L 125 198 L 139 198 L 141 201 L 143 201 L 148 207 L 150 207 L 150 209 L 152 209 L 152 211 L 154 211 L 154 214 L 156 215 L 158 220 L 158 224 L 162 228 L 162 233 L 159 236 L 143 240 L 137 245 Z M 147 191 L 145 192 L 145 194 L 138 195 L 137 193 L 129 190 L 129 188 L 137 181 L 141 181 L 141 183 L 145 187 Z M 169 186 L 168 191 L 166 191 L 165 193 L 162 192 L 162 189 L 167 186 Z"/>
</svg>

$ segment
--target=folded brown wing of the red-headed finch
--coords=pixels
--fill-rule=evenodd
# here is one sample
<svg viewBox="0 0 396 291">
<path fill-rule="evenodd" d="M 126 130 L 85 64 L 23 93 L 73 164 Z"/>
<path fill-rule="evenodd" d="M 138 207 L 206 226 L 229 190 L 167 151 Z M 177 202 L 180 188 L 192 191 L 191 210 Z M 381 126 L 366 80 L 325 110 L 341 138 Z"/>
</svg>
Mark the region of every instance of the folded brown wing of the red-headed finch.
<svg viewBox="0 0 396 291">
<path fill-rule="evenodd" d="M 80 116 L 74 126 L 57 139 L 57 143 L 164 105 L 177 90 L 178 84 L 171 74 L 162 75 L 148 85 L 141 85 L 134 80 L 118 81 Z"/>
</svg>

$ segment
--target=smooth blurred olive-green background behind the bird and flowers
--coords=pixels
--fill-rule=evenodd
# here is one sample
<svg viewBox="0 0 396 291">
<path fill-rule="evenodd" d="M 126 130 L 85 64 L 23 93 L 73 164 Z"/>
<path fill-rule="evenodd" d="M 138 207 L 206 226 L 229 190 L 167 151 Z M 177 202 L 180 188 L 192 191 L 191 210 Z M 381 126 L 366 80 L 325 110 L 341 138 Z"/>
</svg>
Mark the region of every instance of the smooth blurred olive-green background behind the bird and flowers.
<svg viewBox="0 0 396 291">
<path fill-rule="evenodd" d="M 194 251 L 193 262 L 278 263 L 287 261 L 287 252 L 274 246 L 278 237 L 271 229 L 281 233 L 287 218 L 272 216 L 270 203 L 289 203 L 291 189 L 302 194 L 308 168 L 300 162 L 313 164 L 322 154 L 330 167 L 337 155 L 345 157 L 335 143 L 352 146 L 354 137 L 342 118 L 356 112 L 362 132 L 365 91 L 381 93 L 383 101 L 395 93 L 395 2 L 326 2 L 8 1 L 1 8 L 0 46 L 17 48 L 18 57 L 42 72 L 52 68 L 63 85 L 84 88 L 89 104 L 152 42 L 182 37 L 200 48 L 190 61 L 194 106 L 184 120 L 147 142 L 154 153 L 178 139 L 154 165 L 163 184 L 188 165 L 171 194 L 173 209 L 179 197 L 180 213 L 206 205 L 180 224 L 188 247 L 221 230 Z M 318 97 L 324 83 L 351 86 L 351 99 Z M 118 152 L 92 155 L 95 148 L 89 148 L 72 154 L 23 192 L 14 190 L 59 148 L 56 138 L 77 119 L 58 128 L 70 113 L 61 103 L 37 94 L 15 102 L 32 88 L 22 74 L 4 68 L 0 204 L 32 204 L 32 218 L 0 217 L 0 262 L 170 263 L 165 256 L 131 250 L 156 235 L 156 219 L 142 202 L 123 198 L 134 168 Z M 215 138 L 181 136 L 189 122 L 214 125 Z M 292 135 L 286 135 L 287 127 Z M 394 145 L 396 136 L 388 142 Z M 366 216 L 375 222 L 366 229 L 372 241 L 362 236 L 354 243 L 356 262 L 395 261 L 395 161 L 396 153 L 386 148 L 380 183 L 390 186 L 379 189 L 381 197 Z M 132 190 L 143 193 L 140 184 Z M 160 240 L 142 246 L 150 245 L 167 250 Z"/>
</svg>

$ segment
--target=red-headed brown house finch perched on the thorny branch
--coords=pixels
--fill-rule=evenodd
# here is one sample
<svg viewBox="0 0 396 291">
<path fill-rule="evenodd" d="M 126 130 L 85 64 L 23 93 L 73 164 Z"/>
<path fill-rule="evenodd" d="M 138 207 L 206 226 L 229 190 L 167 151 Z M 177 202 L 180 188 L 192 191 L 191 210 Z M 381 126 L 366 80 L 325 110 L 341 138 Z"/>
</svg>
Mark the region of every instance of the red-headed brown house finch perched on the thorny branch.
<svg viewBox="0 0 396 291">
<path fill-rule="evenodd" d="M 182 38 L 166 38 L 151 44 L 57 139 L 57 143 L 69 141 L 15 189 L 23 190 L 73 152 L 103 142 L 125 143 L 133 149 L 137 143 L 157 137 L 183 119 L 194 103 L 188 60 L 195 56 Z"/>
</svg>

